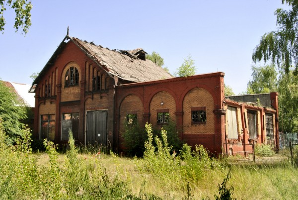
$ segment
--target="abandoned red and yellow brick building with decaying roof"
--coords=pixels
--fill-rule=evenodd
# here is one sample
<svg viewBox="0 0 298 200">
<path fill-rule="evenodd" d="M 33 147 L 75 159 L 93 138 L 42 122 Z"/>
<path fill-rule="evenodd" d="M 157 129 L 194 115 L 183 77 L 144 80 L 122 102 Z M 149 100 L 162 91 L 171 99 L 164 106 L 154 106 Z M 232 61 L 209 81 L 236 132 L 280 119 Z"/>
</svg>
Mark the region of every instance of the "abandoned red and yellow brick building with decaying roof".
<svg viewBox="0 0 298 200">
<path fill-rule="evenodd" d="M 67 35 L 30 92 L 35 93 L 35 139 L 121 148 L 127 115 L 158 127 L 169 118 L 179 137 L 211 152 L 248 152 L 251 141 L 278 141 L 277 93 L 258 105 L 224 97 L 224 73 L 174 78 L 139 48 L 109 50 Z"/>
</svg>

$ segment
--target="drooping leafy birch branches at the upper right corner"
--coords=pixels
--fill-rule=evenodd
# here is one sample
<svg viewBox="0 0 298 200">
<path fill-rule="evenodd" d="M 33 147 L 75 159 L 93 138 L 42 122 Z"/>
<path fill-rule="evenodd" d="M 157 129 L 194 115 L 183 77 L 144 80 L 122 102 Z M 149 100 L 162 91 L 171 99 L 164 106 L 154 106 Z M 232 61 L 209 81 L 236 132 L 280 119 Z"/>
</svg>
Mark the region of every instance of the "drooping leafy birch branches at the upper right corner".
<svg viewBox="0 0 298 200">
<path fill-rule="evenodd" d="M 277 16 L 277 30 L 265 33 L 260 43 L 253 51 L 252 60 L 260 62 L 264 60 L 277 63 L 285 63 L 283 68 L 289 73 L 291 65 L 295 64 L 294 74 L 298 74 L 298 0 L 282 0 L 292 9 L 284 10 L 278 8 L 275 11 Z"/>
</svg>

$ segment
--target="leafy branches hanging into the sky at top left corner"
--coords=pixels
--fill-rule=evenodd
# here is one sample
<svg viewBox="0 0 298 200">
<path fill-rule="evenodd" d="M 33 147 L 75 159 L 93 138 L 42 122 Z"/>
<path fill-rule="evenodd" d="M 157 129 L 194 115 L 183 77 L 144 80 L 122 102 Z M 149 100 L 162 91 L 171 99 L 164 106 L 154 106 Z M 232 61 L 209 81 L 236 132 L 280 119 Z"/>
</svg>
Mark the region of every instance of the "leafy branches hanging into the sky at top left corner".
<svg viewBox="0 0 298 200">
<path fill-rule="evenodd" d="M 24 33 L 28 32 L 29 27 L 31 26 L 31 9 L 32 4 L 29 0 L 0 0 L 0 31 L 4 32 L 4 26 L 6 24 L 4 18 L 4 11 L 6 7 L 10 7 L 15 11 L 14 25 L 13 27 L 18 31 L 19 27 L 22 28 Z M 15 31 L 15 32 L 16 32 Z"/>
</svg>

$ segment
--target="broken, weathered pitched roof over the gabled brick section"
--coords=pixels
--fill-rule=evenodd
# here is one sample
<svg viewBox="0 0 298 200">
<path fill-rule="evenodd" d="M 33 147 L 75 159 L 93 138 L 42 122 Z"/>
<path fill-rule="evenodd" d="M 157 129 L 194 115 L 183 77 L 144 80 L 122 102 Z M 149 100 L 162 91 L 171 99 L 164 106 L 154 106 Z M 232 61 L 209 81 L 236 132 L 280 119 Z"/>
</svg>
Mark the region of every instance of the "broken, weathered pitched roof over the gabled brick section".
<svg viewBox="0 0 298 200">
<path fill-rule="evenodd" d="M 65 40 L 74 42 L 95 63 L 102 67 L 110 76 L 116 76 L 131 82 L 146 82 L 160 79 L 173 78 L 168 72 L 148 59 L 140 59 L 140 54 L 147 54 L 142 48 L 135 50 L 110 50 L 93 42 L 82 41 L 67 35 L 61 42 L 53 56 L 45 65 L 39 76 L 33 81 L 33 86 L 38 83 L 40 77 L 46 73 L 48 66 L 52 65 L 61 50 L 65 47 Z M 32 88 L 33 89 L 33 88 Z M 33 89 L 34 90 L 34 89 Z M 30 90 L 30 92 L 33 92 Z"/>
</svg>

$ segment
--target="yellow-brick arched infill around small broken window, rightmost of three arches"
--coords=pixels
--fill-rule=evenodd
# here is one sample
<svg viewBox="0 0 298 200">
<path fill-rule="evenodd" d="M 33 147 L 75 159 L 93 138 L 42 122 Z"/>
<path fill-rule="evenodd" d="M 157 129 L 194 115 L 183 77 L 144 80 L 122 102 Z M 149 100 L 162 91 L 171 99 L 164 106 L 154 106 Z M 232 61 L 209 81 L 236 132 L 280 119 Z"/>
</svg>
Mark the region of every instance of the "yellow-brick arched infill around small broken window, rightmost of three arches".
<svg viewBox="0 0 298 200">
<path fill-rule="evenodd" d="M 193 88 L 183 97 L 183 132 L 186 134 L 215 133 L 215 100 L 212 93 L 205 88 Z M 193 123 L 192 110 L 205 110 L 207 121 Z"/>
</svg>

